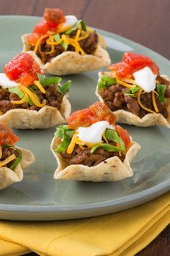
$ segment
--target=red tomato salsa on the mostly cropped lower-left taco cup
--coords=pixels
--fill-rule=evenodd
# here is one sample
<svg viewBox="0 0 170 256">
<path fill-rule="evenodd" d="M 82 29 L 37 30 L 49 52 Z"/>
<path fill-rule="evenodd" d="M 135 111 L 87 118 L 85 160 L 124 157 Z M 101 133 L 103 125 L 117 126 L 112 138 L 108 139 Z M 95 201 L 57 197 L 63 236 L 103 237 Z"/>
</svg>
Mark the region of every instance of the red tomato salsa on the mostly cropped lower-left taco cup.
<svg viewBox="0 0 170 256">
<path fill-rule="evenodd" d="M 0 123 L 0 145 L 9 144 L 14 145 L 15 142 L 19 141 L 19 137 L 14 135 L 11 129 L 6 127 L 4 122 Z"/>
</svg>

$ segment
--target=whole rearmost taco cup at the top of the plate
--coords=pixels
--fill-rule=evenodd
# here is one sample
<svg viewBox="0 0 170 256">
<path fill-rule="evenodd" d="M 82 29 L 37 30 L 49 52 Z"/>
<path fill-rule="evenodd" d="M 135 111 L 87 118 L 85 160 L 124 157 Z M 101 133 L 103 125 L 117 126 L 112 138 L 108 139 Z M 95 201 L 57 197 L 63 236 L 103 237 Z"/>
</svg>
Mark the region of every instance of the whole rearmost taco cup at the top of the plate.
<svg viewBox="0 0 170 256">
<path fill-rule="evenodd" d="M 45 9 L 31 34 L 22 35 L 28 51 L 49 74 L 78 74 L 110 64 L 101 35 L 61 9 Z"/>
</svg>

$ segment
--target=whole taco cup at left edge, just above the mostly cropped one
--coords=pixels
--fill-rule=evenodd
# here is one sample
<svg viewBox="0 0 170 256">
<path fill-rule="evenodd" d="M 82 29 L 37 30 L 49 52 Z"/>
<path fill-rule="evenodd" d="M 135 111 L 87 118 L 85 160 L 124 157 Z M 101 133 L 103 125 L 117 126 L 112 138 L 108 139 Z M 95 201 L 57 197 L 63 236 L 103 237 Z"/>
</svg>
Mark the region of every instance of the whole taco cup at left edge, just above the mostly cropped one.
<svg viewBox="0 0 170 256">
<path fill-rule="evenodd" d="M 48 128 L 65 122 L 71 113 L 67 100 L 71 81 L 45 78 L 35 60 L 18 54 L 0 73 L 0 121 L 17 129 Z"/>
</svg>

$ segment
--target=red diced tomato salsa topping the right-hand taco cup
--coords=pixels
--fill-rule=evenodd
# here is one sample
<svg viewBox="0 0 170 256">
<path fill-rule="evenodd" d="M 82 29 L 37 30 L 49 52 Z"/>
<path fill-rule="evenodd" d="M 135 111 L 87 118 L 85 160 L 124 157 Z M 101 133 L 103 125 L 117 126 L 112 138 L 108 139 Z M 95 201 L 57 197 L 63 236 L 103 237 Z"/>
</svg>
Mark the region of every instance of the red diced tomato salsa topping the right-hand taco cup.
<svg viewBox="0 0 170 256">
<path fill-rule="evenodd" d="M 129 78 L 133 76 L 134 72 L 143 69 L 144 67 L 149 67 L 153 74 L 158 74 L 159 72 L 159 67 L 148 56 L 126 52 L 122 57 L 122 61 L 110 65 L 108 69 L 115 71 L 117 77 Z"/>
</svg>

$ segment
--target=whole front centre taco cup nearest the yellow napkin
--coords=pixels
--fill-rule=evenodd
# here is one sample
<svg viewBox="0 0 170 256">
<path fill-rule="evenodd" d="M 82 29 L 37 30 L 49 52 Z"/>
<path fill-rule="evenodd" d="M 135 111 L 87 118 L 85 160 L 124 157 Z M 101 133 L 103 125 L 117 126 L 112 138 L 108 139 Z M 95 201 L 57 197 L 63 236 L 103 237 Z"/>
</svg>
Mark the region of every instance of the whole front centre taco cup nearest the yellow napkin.
<svg viewBox="0 0 170 256">
<path fill-rule="evenodd" d="M 114 182 L 133 176 L 130 161 L 140 149 L 128 132 L 115 125 L 104 103 L 73 112 L 68 125 L 58 126 L 51 150 L 58 168 L 55 179 Z"/>
</svg>

